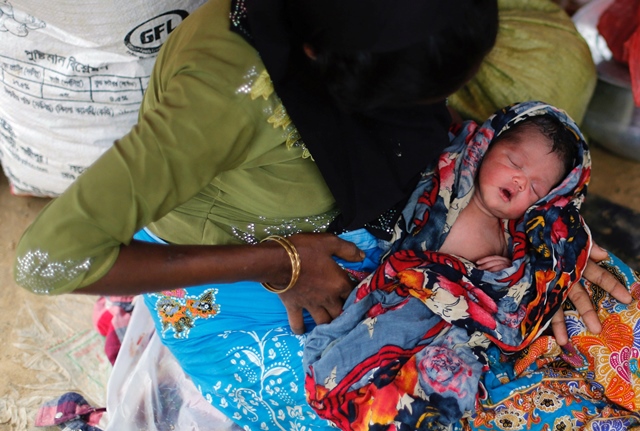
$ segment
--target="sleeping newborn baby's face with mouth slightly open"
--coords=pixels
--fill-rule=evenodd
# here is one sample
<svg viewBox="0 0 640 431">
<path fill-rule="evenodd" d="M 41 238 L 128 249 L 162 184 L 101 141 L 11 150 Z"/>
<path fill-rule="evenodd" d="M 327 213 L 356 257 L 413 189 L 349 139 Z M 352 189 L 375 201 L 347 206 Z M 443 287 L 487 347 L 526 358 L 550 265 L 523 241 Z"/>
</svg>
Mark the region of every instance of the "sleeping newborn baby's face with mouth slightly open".
<svg viewBox="0 0 640 431">
<path fill-rule="evenodd" d="M 479 204 L 495 217 L 520 218 L 562 180 L 563 163 L 551 145 L 531 128 L 493 143 L 478 172 Z"/>
</svg>

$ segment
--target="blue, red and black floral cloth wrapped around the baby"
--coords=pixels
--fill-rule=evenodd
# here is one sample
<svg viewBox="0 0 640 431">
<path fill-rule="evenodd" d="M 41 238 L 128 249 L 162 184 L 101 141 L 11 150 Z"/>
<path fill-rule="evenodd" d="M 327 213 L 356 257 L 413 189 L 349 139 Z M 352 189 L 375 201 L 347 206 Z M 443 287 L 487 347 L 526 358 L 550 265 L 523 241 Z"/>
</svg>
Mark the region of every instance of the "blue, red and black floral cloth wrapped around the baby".
<svg viewBox="0 0 640 431">
<path fill-rule="evenodd" d="M 548 114 L 573 131 L 567 177 L 519 220 L 505 222 L 511 267 L 491 273 L 435 251 L 467 205 L 491 140 Z M 304 354 L 307 398 L 343 430 L 448 429 L 475 411 L 487 349 L 515 352 L 547 327 L 579 280 L 591 239 L 579 214 L 590 176 L 586 143 L 562 111 L 540 102 L 465 123 L 403 212 L 395 244 Z M 358 346 L 358 348 L 354 348 Z"/>
</svg>

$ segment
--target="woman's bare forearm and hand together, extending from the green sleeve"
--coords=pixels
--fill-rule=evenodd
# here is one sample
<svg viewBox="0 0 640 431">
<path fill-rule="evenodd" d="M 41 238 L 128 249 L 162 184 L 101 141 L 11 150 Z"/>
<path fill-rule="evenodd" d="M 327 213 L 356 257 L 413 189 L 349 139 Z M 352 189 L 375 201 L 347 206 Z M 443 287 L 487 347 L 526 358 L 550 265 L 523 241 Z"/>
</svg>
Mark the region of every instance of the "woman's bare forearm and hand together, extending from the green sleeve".
<svg viewBox="0 0 640 431">
<path fill-rule="evenodd" d="M 364 259 L 355 244 L 329 233 L 302 233 L 289 238 L 300 255 L 300 276 L 279 294 L 291 330 L 304 333 L 302 310 L 316 323 L 328 323 L 342 312 L 354 282 L 333 259 Z M 161 245 L 132 241 L 122 246 L 109 272 L 75 293 L 137 295 L 184 286 L 237 281 L 268 282 L 284 289 L 291 280 L 291 261 L 275 241 L 258 245 Z M 250 298 L 249 298 L 250 300 Z"/>
</svg>

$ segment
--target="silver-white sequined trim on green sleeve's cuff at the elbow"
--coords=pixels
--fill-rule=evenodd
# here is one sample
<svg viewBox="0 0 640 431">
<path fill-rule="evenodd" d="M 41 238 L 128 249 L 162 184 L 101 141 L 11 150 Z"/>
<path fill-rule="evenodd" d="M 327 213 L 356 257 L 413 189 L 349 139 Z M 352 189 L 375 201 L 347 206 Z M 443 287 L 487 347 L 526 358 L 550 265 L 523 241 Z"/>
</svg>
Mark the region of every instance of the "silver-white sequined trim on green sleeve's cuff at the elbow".
<svg viewBox="0 0 640 431">
<path fill-rule="evenodd" d="M 42 250 L 18 258 L 16 282 L 34 293 L 48 294 L 61 281 L 69 281 L 91 268 L 91 258 L 55 262 Z"/>
</svg>

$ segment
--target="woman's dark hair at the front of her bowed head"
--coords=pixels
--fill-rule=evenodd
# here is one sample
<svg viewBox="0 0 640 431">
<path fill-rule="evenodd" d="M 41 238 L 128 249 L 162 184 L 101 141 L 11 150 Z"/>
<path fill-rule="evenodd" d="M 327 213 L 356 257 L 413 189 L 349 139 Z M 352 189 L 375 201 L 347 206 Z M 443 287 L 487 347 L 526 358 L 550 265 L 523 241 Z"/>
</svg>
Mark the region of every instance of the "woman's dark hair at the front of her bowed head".
<svg viewBox="0 0 640 431">
<path fill-rule="evenodd" d="M 455 19 L 400 49 L 344 52 L 314 40 L 305 42 L 315 51 L 312 63 L 320 79 L 338 105 L 348 111 L 433 102 L 467 82 L 496 40 L 496 1 L 470 0 L 464 4 Z M 411 14 L 411 8 L 405 13 Z M 431 21 L 437 20 L 437 16 L 431 17 Z M 430 22 L 423 25 L 436 26 Z"/>
</svg>

